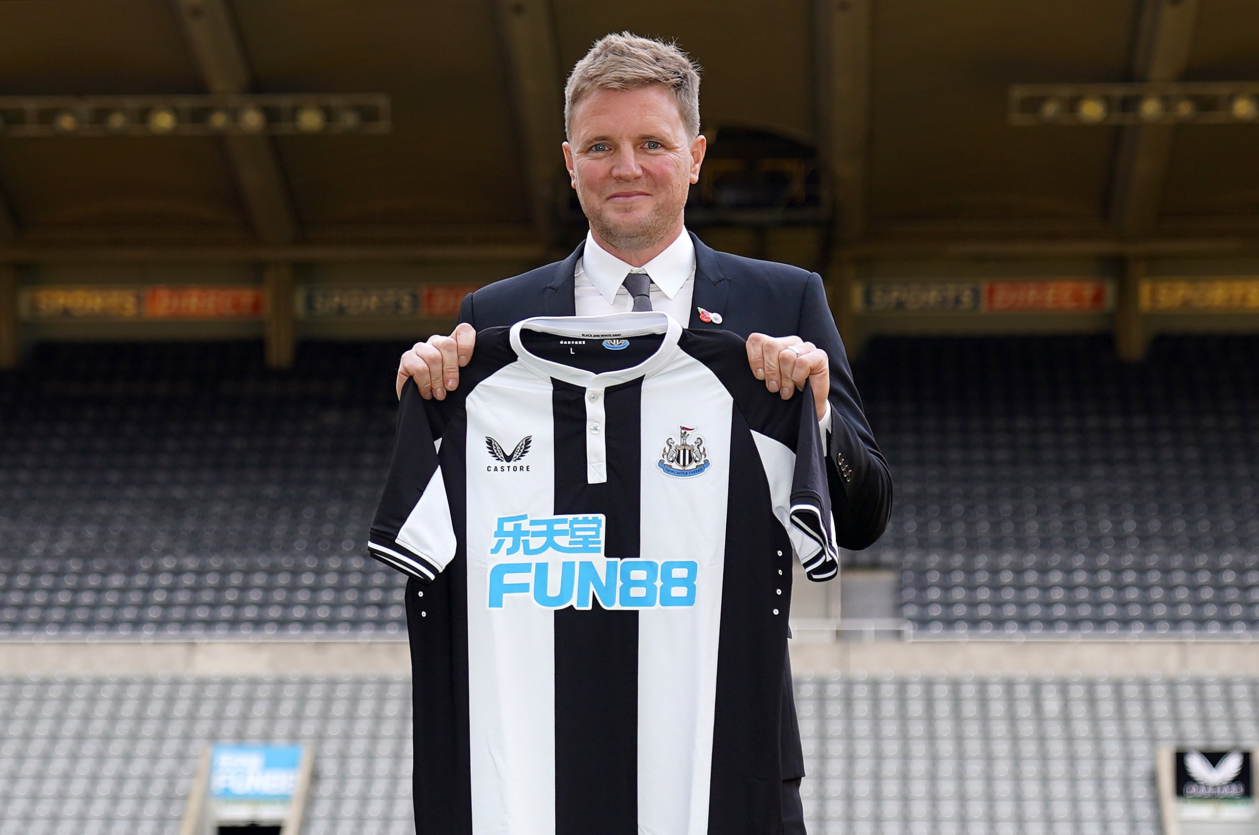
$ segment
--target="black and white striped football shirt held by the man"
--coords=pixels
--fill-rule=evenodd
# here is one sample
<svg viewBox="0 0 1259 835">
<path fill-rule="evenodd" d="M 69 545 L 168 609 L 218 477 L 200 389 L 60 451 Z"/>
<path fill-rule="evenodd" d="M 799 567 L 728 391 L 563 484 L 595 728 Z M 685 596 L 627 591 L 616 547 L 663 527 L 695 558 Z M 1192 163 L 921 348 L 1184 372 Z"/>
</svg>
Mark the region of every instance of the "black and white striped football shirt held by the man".
<svg viewBox="0 0 1259 835">
<path fill-rule="evenodd" d="M 838 572 L 808 387 L 660 312 L 481 331 L 460 380 L 405 387 L 369 543 L 412 578 L 417 830 L 778 831 L 791 560 Z"/>
</svg>

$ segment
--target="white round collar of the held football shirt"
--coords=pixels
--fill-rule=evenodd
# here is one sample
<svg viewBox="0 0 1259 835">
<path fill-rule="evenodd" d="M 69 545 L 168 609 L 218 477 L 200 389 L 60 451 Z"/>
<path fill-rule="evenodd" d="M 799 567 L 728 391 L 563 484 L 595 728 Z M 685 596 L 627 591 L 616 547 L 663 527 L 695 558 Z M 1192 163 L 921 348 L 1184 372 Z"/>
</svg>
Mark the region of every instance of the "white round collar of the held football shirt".
<svg viewBox="0 0 1259 835">
<path fill-rule="evenodd" d="M 558 336 L 622 339 L 645 334 L 663 334 L 665 338 L 660 348 L 637 365 L 596 374 L 583 368 L 564 365 L 533 354 L 520 339 L 520 331 L 526 327 Z M 534 316 L 512 325 L 509 339 L 511 350 L 520 358 L 521 364 L 539 377 L 548 379 L 554 377 L 583 388 L 607 388 L 658 372 L 677 353 L 677 340 L 681 335 L 682 326 L 674 321 L 672 316 L 658 311 L 640 311 L 603 316 Z"/>
</svg>

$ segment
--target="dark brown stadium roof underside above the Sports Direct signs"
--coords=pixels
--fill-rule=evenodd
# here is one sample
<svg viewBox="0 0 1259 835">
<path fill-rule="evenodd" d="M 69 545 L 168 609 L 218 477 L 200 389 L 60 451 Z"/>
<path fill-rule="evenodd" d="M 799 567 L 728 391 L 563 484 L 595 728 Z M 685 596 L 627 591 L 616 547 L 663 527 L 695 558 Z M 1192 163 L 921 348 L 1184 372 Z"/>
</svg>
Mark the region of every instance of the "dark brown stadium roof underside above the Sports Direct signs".
<svg viewBox="0 0 1259 835">
<path fill-rule="evenodd" d="M 10 113 L 0 259 L 541 254 L 573 228 L 564 73 L 622 29 L 703 64 L 715 157 L 749 131 L 815 156 L 797 219 L 852 252 L 1228 253 L 1259 232 L 1259 121 L 1010 118 L 1015 84 L 1259 79 L 1253 0 L 9 0 L 0 96 L 384 93 L 389 131 L 26 136 Z"/>
</svg>

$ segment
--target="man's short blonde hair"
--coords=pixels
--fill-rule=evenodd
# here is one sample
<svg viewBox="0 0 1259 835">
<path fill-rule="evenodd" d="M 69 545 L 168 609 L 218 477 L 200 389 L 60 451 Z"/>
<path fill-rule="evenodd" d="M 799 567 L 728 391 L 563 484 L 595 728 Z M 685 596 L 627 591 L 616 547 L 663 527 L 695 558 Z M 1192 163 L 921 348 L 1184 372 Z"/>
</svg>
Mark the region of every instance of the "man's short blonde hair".
<svg viewBox="0 0 1259 835">
<path fill-rule="evenodd" d="M 700 133 L 700 65 L 677 44 L 641 38 L 630 31 L 594 42 L 564 84 L 564 133 L 573 137 L 573 110 L 596 89 L 638 89 L 663 84 L 677 99 L 686 133 Z"/>
</svg>

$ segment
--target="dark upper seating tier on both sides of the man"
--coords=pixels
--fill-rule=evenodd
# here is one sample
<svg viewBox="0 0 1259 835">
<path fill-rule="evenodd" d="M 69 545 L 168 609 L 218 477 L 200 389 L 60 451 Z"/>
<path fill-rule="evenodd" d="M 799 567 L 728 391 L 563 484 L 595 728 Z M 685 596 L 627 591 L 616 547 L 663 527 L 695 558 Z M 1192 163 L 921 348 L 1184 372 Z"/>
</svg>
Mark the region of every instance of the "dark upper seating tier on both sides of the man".
<svg viewBox="0 0 1259 835">
<path fill-rule="evenodd" d="M 44 345 L 0 375 L 0 635 L 402 635 L 364 555 L 402 346 Z M 927 635 L 1259 626 L 1254 336 L 898 338 L 856 365 L 896 503 L 849 567 Z M 91 358 L 86 361 L 84 358 Z"/>
</svg>

